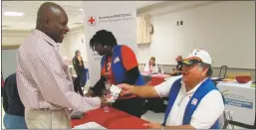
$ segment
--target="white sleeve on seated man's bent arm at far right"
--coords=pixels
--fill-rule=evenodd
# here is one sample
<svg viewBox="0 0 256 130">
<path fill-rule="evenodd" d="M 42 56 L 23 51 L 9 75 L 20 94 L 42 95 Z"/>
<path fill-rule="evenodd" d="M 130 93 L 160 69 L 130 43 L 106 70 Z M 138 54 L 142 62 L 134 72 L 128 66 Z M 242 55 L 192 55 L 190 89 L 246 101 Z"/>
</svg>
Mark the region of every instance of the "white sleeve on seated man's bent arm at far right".
<svg viewBox="0 0 256 130">
<path fill-rule="evenodd" d="M 192 115 L 190 125 L 196 129 L 209 129 L 223 114 L 224 109 L 221 93 L 212 90 L 200 101 Z"/>
</svg>

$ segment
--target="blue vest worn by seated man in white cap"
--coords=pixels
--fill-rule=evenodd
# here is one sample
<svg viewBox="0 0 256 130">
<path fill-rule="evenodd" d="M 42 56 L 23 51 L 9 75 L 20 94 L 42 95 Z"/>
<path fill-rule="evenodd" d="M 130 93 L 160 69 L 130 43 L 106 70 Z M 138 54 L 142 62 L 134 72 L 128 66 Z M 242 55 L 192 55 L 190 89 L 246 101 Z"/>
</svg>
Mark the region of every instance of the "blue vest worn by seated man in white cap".
<svg viewBox="0 0 256 130">
<path fill-rule="evenodd" d="M 180 87 L 181 87 L 180 81 L 181 81 L 181 78 L 175 80 L 174 83 L 172 84 L 170 90 L 169 90 L 169 99 L 168 99 L 167 109 L 166 109 L 165 115 L 164 115 L 164 121 L 162 123 L 163 126 L 165 126 L 167 117 L 171 116 L 171 115 L 169 115 L 169 112 L 170 112 L 171 107 L 173 106 L 173 103 L 176 100 L 176 97 L 177 97 L 178 92 L 180 90 Z M 218 90 L 218 88 L 214 85 L 214 83 L 211 81 L 211 79 L 208 78 L 204 82 L 202 82 L 202 84 L 196 89 L 193 96 L 190 98 L 190 100 L 188 101 L 188 103 L 186 105 L 185 112 L 184 112 L 184 115 L 183 115 L 182 125 L 190 124 L 190 120 L 191 120 L 191 117 L 194 113 L 194 110 L 197 108 L 201 99 L 208 92 L 210 92 L 211 90 L 214 90 L 214 89 Z M 195 105 L 191 104 L 192 100 L 194 98 L 197 99 Z M 207 116 L 207 115 L 205 115 L 205 116 Z M 220 129 L 218 120 L 216 120 L 216 122 L 211 126 L 211 129 Z"/>
</svg>

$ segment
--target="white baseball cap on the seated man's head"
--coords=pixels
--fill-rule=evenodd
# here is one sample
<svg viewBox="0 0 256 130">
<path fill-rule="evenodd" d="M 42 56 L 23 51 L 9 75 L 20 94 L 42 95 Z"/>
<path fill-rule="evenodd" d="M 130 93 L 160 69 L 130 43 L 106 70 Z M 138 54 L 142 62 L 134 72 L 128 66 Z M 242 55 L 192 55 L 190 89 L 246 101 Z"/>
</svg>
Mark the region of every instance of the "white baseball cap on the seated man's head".
<svg viewBox="0 0 256 130">
<path fill-rule="evenodd" d="M 192 50 L 188 56 L 182 61 L 185 65 L 193 65 L 196 63 L 212 64 L 210 55 L 204 50 Z"/>
</svg>

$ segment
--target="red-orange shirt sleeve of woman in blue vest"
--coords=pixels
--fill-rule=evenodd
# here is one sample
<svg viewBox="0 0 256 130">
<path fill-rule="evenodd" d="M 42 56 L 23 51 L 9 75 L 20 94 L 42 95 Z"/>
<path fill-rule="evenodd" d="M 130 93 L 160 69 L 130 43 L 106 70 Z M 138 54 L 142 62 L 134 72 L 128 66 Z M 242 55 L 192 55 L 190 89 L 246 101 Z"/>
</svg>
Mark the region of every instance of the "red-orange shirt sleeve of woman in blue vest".
<svg viewBox="0 0 256 130">
<path fill-rule="evenodd" d="M 135 54 L 133 51 L 128 48 L 128 46 L 122 47 L 122 61 L 123 65 L 125 66 L 126 70 L 129 70 L 135 66 L 137 66 L 137 61 Z"/>
</svg>

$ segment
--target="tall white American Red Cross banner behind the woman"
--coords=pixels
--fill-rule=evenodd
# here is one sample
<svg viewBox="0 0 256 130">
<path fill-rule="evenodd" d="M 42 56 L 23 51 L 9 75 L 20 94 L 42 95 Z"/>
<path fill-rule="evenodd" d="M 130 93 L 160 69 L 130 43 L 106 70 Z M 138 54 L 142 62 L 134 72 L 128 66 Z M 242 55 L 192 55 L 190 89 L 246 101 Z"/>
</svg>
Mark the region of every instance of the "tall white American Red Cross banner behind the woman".
<svg viewBox="0 0 256 130">
<path fill-rule="evenodd" d="M 136 52 L 136 8 L 133 1 L 84 1 L 84 24 L 89 65 L 90 85 L 100 79 L 101 59 L 89 46 L 97 31 L 108 30 L 119 45 L 127 45 Z"/>
</svg>

